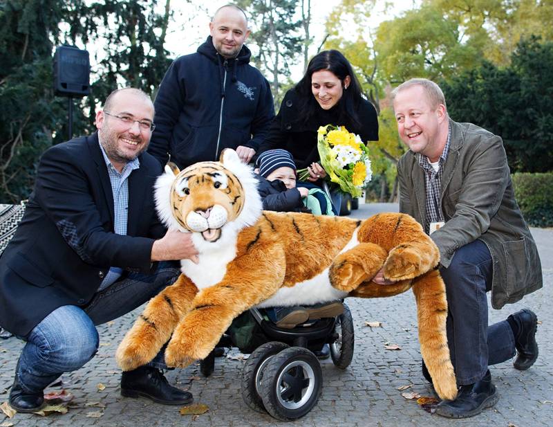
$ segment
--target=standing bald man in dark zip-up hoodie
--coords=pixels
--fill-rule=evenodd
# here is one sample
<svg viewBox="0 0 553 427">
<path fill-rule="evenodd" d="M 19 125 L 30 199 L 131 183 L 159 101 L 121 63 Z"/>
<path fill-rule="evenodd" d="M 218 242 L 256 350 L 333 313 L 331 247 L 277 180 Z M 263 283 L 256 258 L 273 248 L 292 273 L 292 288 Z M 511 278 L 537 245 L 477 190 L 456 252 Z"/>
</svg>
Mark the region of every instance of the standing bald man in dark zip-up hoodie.
<svg viewBox="0 0 553 427">
<path fill-rule="evenodd" d="M 248 163 L 274 117 L 269 83 L 248 64 L 243 10 L 219 8 L 209 33 L 196 53 L 171 64 L 161 82 L 148 152 L 162 165 L 169 157 L 181 169 L 216 161 L 227 147 Z"/>
</svg>

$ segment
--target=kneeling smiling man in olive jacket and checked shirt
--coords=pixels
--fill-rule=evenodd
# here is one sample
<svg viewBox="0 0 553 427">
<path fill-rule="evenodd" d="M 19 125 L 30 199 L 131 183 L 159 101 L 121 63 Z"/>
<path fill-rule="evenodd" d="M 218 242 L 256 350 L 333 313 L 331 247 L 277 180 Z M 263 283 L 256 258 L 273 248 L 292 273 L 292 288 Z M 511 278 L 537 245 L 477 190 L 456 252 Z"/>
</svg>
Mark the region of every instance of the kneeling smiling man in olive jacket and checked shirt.
<svg viewBox="0 0 553 427">
<path fill-rule="evenodd" d="M 460 390 L 436 412 L 471 417 L 498 401 L 488 365 L 515 350 L 516 369 L 536 361 L 536 314 L 523 309 L 488 327 L 486 292 L 500 309 L 540 289 L 538 251 L 514 199 L 499 136 L 451 120 L 440 87 L 429 80 L 401 84 L 393 107 L 409 147 L 397 165 L 400 212 L 415 217 L 440 249 L 449 305 L 447 336 Z M 386 284 L 382 276 L 376 280 Z"/>
</svg>

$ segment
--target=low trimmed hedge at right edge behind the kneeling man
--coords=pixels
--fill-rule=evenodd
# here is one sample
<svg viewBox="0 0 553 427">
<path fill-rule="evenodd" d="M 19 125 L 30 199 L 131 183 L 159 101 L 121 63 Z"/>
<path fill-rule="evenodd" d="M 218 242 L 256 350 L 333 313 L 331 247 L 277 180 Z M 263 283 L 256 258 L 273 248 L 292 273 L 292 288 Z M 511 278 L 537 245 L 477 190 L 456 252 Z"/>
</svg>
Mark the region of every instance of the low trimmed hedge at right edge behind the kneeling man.
<svg viewBox="0 0 553 427">
<path fill-rule="evenodd" d="M 553 173 L 512 175 L 514 193 L 527 223 L 553 227 Z"/>
</svg>

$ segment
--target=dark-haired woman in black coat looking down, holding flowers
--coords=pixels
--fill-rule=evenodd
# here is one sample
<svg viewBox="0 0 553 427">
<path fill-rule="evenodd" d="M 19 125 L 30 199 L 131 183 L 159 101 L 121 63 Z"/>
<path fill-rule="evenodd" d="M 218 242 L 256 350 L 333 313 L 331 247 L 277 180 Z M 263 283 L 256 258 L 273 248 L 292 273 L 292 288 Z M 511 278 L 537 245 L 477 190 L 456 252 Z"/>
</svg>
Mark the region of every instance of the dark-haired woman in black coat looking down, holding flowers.
<svg viewBox="0 0 553 427">
<path fill-rule="evenodd" d="M 364 143 L 378 140 L 375 107 L 362 97 L 346 57 L 334 50 L 312 57 L 306 74 L 285 94 L 259 153 L 286 149 L 298 169 L 308 168 L 310 181 L 322 179 L 326 172 L 317 163 L 317 129 L 324 125 L 345 126 Z"/>
</svg>

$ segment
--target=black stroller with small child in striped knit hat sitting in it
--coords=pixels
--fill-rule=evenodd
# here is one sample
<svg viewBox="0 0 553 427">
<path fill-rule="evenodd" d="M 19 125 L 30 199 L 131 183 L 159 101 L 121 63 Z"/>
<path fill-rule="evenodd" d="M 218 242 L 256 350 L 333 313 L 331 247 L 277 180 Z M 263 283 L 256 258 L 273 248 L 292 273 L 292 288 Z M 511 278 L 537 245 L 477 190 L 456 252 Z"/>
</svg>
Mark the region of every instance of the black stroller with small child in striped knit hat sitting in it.
<svg viewBox="0 0 553 427">
<path fill-rule="evenodd" d="M 314 212 L 334 215 L 328 194 L 316 185 L 301 183 L 296 188 L 296 166 L 289 152 L 263 152 L 256 167 L 263 209 L 310 212 L 310 206 Z M 289 421 L 306 415 L 319 399 L 322 370 L 317 357 L 331 356 L 341 369 L 350 364 L 353 319 L 339 300 L 309 307 L 253 308 L 232 322 L 218 344 L 230 346 L 251 353 L 241 383 L 247 406 Z M 205 376 L 214 370 L 216 350 L 200 362 Z"/>
</svg>

